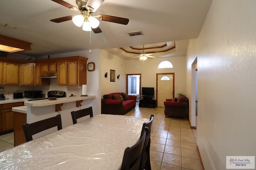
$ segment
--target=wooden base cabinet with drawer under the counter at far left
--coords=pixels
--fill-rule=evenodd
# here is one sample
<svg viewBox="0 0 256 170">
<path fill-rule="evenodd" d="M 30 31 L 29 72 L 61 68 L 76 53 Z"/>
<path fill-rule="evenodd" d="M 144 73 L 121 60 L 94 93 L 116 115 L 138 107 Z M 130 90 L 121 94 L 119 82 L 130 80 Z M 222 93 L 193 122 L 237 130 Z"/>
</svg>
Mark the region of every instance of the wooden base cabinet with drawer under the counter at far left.
<svg viewBox="0 0 256 170">
<path fill-rule="evenodd" d="M 24 102 L 2 104 L 1 105 L 1 134 L 9 133 L 14 129 L 14 111 L 12 107 L 24 106 Z"/>
</svg>

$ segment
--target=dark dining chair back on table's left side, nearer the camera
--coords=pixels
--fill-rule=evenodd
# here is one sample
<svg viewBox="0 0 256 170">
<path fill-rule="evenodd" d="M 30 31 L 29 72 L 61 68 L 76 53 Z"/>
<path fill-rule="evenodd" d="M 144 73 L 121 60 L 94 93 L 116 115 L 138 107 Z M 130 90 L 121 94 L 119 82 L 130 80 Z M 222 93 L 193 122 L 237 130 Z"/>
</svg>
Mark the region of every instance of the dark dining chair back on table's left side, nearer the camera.
<svg viewBox="0 0 256 170">
<path fill-rule="evenodd" d="M 26 142 L 33 140 L 32 135 L 35 135 L 36 133 L 45 131 L 56 126 L 58 127 L 58 130 L 62 129 L 61 115 L 56 115 L 55 117 L 40 120 L 30 124 L 26 123 L 22 125 Z"/>
</svg>

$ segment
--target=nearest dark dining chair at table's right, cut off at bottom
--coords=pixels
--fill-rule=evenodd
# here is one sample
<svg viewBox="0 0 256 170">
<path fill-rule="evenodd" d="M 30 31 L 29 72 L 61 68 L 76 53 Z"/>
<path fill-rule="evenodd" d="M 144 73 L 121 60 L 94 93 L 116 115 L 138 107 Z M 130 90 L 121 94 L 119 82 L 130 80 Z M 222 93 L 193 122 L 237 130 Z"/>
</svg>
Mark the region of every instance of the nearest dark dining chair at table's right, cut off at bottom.
<svg viewBox="0 0 256 170">
<path fill-rule="evenodd" d="M 149 136 L 148 127 L 144 128 L 142 137 L 135 145 L 124 150 L 121 170 L 141 170 L 142 151 L 146 136 Z"/>
</svg>

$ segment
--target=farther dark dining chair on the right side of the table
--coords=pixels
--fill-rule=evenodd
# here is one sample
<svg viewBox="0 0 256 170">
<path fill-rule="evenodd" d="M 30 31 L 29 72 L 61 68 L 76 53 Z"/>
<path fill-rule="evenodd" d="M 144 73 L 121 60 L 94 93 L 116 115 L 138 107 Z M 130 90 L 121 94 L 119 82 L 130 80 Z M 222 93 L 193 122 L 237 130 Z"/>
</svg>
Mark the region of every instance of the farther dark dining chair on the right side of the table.
<svg viewBox="0 0 256 170">
<path fill-rule="evenodd" d="M 151 127 L 152 127 L 152 122 L 153 122 L 153 119 L 154 119 L 154 115 L 151 114 L 150 115 L 150 119 L 148 122 L 146 123 L 143 123 L 142 125 L 142 130 L 145 128 L 145 127 L 148 127 L 148 133 L 149 135 L 146 136 L 146 139 L 145 139 L 145 143 L 144 143 L 144 147 L 143 147 L 143 153 L 142 153 L 142 162 L 141 162 L 141 169 L 142 170 L 151 170 L 151 164 L 150 164 L 150 133 L 151 133 Z M 141 137 L 143 135 L 143 131 L 141 132 Z"/>
</svg>

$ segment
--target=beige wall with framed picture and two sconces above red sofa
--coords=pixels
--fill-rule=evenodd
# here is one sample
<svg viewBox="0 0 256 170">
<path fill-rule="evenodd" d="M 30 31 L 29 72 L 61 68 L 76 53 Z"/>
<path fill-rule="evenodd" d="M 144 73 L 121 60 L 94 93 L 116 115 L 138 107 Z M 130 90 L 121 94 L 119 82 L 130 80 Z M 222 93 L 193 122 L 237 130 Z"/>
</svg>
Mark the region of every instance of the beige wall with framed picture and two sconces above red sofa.
<svg viewBox="0 0 256 170">
<path fill-rule="evenodd" d="M 114 92 L 126 92 L 126 61 L 105 50 L 102 50 L 101 52 L 101 96 Z M 116 78 L 115 82 L 110 82 L 110 69 L 116 70 L 116 77 L 120 74 L 119 80 Z M 104 77 L 106 72 L 108 72 L 108 78 Z"/>
</svg>

